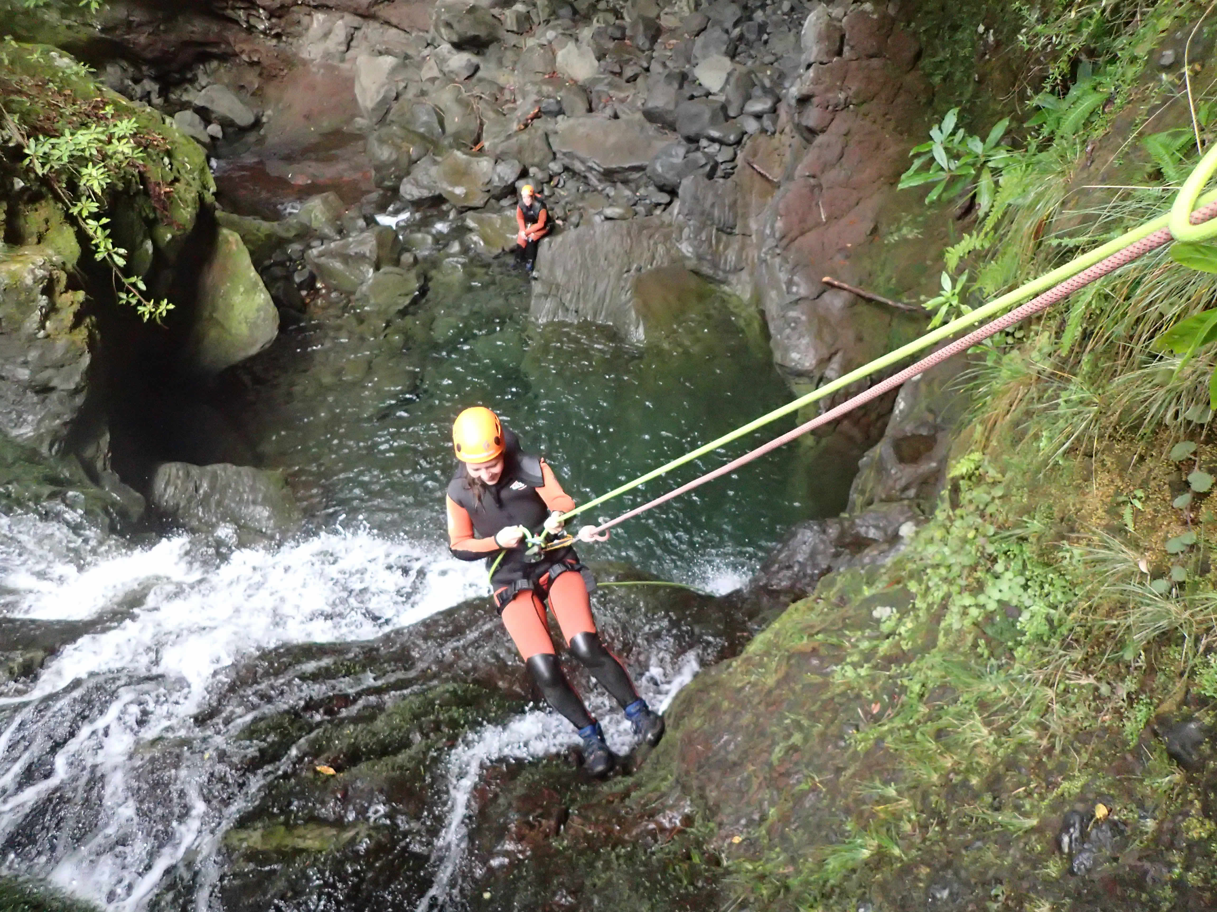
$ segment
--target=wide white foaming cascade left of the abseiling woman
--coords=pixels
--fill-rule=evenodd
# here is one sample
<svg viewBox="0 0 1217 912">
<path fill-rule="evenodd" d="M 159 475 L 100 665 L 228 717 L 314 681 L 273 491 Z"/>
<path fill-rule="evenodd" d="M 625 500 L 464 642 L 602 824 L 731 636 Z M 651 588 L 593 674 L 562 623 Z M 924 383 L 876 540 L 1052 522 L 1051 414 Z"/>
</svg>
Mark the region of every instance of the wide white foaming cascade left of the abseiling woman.
<svg viewBox="0 0 1217 912">
<path fill-rule="evenodd" d="M 0 518 L 5 614 L 114 615 L 50 659 L 33 691 L 0 700 L 10 714 L 0 732 L 0 843 L 18 828 L 38 833 L 44 848 L 23 858 L 23 872 L 106 908 L 142 908 L 172 866 L 214 845 L 231 821 L 230 809 L 208 806 L 202 783 L 223 738 L 191 717 L 218 672 L 286 643 L 366 640 L 486 591 L 479 567 L 368 533 L 218 558 L 187 537 L 138 548 Z M 179 753 L 148 776 L 164 760 L 147 750 L 157 738 L 178 738 Z M 133 772 L 141 767 L 153 794 Z"/>
</svg>

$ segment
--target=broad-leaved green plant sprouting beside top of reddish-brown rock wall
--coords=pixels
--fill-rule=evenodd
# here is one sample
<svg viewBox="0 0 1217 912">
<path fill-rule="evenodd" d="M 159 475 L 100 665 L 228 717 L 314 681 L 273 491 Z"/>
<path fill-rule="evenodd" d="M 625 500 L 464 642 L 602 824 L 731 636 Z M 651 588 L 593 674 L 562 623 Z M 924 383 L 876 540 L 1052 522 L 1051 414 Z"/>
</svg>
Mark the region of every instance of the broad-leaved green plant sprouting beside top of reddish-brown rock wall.
<svg viewBox="0 0 1217 912">
<path fill-rule="evenodd" d="M 983 215 L 993 206 L 998 175 L 1010 162 L 1010 147 L 1002 143 L 1010 118 L 996 123 L 983 140 L 961 126 L 957 129 L 958 120 L 959 108 L 952 108 L 941 124 L 930 128 L 930 141 L 909 152 L 916 158 L 901 175 L 899 188 L 937 184 L 926 196 L 927 203 L 942 196 L 950 199 L 972 192 L 977 212 Z"/>
</svg>

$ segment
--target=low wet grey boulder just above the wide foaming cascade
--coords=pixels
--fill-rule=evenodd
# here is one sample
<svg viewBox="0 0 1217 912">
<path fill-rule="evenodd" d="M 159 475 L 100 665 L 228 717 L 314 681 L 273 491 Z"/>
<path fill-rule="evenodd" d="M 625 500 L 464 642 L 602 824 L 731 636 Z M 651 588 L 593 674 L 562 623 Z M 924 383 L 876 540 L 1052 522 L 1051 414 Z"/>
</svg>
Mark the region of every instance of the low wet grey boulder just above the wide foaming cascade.
<svg viewBox="0 0 1217 912">
<path fill-rule="evenodd" d="M 166 519 L 195 531 L 235 527 L 247 535 L 277 537 L 301 523 L 284 477 L 248 466 L 164 462 L 152 475 L 148 501 Z"/>
</svg>

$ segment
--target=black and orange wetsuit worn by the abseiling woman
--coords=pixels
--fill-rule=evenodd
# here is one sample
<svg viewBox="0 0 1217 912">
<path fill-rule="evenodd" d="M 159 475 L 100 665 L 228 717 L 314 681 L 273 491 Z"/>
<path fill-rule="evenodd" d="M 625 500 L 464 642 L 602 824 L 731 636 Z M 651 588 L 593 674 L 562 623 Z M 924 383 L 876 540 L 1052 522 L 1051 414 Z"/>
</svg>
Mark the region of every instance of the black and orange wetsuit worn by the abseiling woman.
<svg viewBox="0 0 1217 912">
<path fill-rule="evenodd" d="M 546 700 L 577 728 L 591 724 L 583 700 L 571 688 L 549 636 L 545 603 L 557 619 L 574 657 L 621 705 L 639 697 L 621 662 L 600 642 L 591 603 L 590 573 L 572 547 L 528 554 L 527 546 L 500 548 L 494 536 L 511 525 L 534 535 L 551 511 L 574 510 L 574 501 L 543 458 L 522 452 L 515 434 L 504 429 L 503 474 L 494 485 L 476 485 L 461 465 L 448 485 L 448 541 L 461 561 L 486 559 L 490 589 L 516 648 Z"/>
</svg>

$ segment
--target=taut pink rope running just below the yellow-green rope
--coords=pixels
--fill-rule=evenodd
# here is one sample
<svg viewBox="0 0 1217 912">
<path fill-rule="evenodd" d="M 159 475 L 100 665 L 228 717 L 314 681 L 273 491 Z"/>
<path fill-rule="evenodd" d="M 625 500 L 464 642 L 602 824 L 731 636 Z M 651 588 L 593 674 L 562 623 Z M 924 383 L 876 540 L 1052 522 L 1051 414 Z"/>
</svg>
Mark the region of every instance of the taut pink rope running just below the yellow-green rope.
<svg viewBox="0 0 1217 912">
<path fill-rule="evenodd" d="M 1191 213 L 1191 224 L 1199 225 L 1204 221 L 1208 221 L 1215 216 L 1217 216 L 1217 203 L 1210 203 L 1208 206 L 1204 206 L 1200 209 L 1196 209 L 1194 213 Z M 890 390 L 896 389 L 897 387 L 904 384 L 907 381 L 913 379 L 918 375 L 925 373 L 927 370 L 930 370 L 936 365 L 942 364 L 948 358 L 953 358 L 958 354 L 961 354 L 968 349 L 970 349 L 972 345 L 977 344 L 978 342 L 983 342 L 991 336 L 996 336 L 997 333 L 1004 330 L 1009 330 L 1011 326 L 1026 320 L 1028 316 L 1038 314 L 1042 310 L 1047 310 L 1053 304 L 1058 303 L 1064 298 L 1067 298 L 1073 292 L 1084 288 L 1086 286 L 1090 285 L 1092 282 L 1101 278 L 1103 276 L 1110 272 L 1115 272 L 1121 266 L 1126 266 L 1133 260 L 1144 257 L 1150 250 L 1156 250 L 1159 247 L 1170 243 L 1170 241 L 1171 241 L 1170 229 L 1159 229 L 1152 235 L 1146 235 L 1140 241 L 1134 241 L 1128 247 L 1123 248 L 1117 253 L 1111 254 L 1105 260 L 1095 263 L 1093 266 L 1090 266 L 1087 270 L 1083 270 L 1082 272 L 1078 272 L 1072 278 L 1066 278 L 1064 282 L 1055 286 L 1054 288 L 1049 288 L 1039 297 L 1032 298 L 1026 304 L 1015 308 L 1005 316 L 999 316 L 993 322 L 986 323 L 981 328 L 974 330 L 963 338 L 955 339 L 954 342 L 943 345 L 932 355 L 922 358 L 916 364 L 905 367 L 903 371 L 899 371 L 898 373 L 893 373 L 887 379 L 880 381 L 864 393 L 859 393 L 852 399 L 847 399 L 841 405 L 836 406 L 835 409 L 830 409 L 819 417 L 812 418 L 806 424 L 800 424 L 793 430 L 790 430 L 779 438 L 774 438 L 769 443 L 758 446 L 757 449 L 750 452 L 744 454 L 738 460 L 733 460 L 731 462 L 728 462 L 725 466 L 716 468 L 713 472 L 707 472 L 700 478 L 695 478 L 692 482 L 689 482 L 689 484 L 682 485 L 675 490 L 668 491 L 667 494 L 656 497 L 655 500 L 644 503 L 640 507 L 630 510 L 628 513 L 622 513 L 616 519 L 610 519 L 607 523 L 605 523 L 604 525 L 599 527 L 595 530 L 596 534 L 605 533 L 606 530 L 613 528 L 615 525 L 619 525 L 621 523 L 624 523 L 627 519 L 633 519 L 638 514 L 645 513 L 647 510 L 654 510 L 661 503 L 667 503 L 669 500 L 679 497 L 682 494 L 688 494 L 695 488 L 701 488 L 703 484 L 713 482 L 716 478 L 722 478 L 723 475 L 730 474 L 741 466 L 746 466 L 753 460 L 758 460 L 765 454 L 773 452 L 779 446 L 789 444 L 791 440 L 795 440 L 796 438 L 800 438 L 803 434 L 814 430 L 818 427 L 823 427 L 824 424 L 836 421 L 843 415 L 852 412 L 858 406 L 865 405 L 867 402 L 874 399 L 879 399 L 879 396 L 884 395 L 885 393 L 888 393 Z"/>
</svg>

